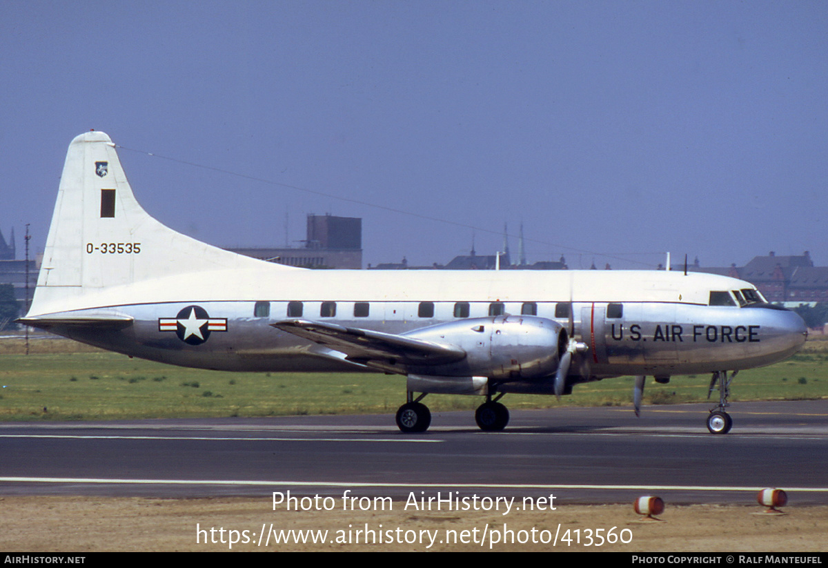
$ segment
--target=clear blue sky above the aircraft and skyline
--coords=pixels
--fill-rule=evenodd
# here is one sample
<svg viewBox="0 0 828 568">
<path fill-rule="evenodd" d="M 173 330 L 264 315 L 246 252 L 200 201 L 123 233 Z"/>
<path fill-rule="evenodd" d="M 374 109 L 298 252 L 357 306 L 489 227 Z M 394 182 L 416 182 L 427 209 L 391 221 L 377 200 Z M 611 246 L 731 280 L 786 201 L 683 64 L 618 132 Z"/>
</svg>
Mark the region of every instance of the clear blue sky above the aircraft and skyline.
<svg viewBox="0 0 828 568">
<path fill-rule="evenodd" d="M 668 250 L 828 265 L 826 16 L 806 1 L 5 0 L 0 230 L 22 256 L 30 223 L 41 251 L 66 147 L 94 128 L 274 182 L 120 151 L 148 211 L 219 246 L 282 246 L 330 213 L 363 218 L 365 262 L 467 253 L 472 229 L 424 215 L 478 227 L 479 254 L 522 222 L 530 262 L 575 268 Z"/>
</svg>

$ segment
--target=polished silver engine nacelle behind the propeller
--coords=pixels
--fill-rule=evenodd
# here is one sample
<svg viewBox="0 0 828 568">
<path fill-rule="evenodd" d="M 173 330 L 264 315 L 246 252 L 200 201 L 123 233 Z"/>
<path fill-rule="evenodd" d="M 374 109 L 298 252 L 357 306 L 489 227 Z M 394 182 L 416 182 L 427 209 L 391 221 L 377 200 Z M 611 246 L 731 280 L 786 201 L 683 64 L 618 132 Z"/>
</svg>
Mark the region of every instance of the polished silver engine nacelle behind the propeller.
<svg viewBox="0 0 828 568">
<path fill-rule="evenodd" d="M 561 324 L 533 315 L 457 320 L 405 335 L 454 344 L 466 352 L 458 363 L 412 368 L 410 373 L 507 380 L 553 375 L 569 339 Z"/>
</svg>

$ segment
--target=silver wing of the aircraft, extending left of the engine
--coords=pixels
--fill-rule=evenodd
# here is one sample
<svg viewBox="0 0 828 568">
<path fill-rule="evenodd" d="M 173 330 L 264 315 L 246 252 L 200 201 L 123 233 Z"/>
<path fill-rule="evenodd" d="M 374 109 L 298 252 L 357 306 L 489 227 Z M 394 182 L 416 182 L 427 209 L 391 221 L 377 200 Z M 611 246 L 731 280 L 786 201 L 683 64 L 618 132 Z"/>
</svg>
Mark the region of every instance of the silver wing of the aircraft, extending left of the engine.
<svg viewBox="0 0 828 568">
<path fill-rule="evenodd" d="M 271 325 L 344 353 L 345 359 L 354 363 L 368 364 L 381 360 L 392 365 L 440 365 L 460 361 L 466 356 L 464 349 L 452 344 L 440 344 L 405 335 L 361 330 L 319 321 L 282 320 Z"/>
</svg>

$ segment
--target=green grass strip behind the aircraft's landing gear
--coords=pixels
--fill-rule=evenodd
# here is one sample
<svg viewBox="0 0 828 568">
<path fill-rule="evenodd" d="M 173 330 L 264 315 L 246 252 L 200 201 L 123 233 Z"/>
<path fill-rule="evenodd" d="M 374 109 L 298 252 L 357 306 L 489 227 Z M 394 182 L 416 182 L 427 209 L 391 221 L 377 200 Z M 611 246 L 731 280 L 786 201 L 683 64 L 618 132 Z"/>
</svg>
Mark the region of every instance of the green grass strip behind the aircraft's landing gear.
<svg viewBox="0 0 828 568">
<path fill-rule="evenodd" d="M 824 342 L 823 342 L 824 343 Z M 731 401 L 828 398 L 828 346 L 743 371 Z M 710 375 L 647 381 L 644 403 L 703 402 Z M 104 352 L 0 354 L 0 421 L 391 413 L 405 379 L 373 373 L 228 373 Z M 633 378 L 576 385 L 571 396 L 508 395 L 510 408 L 630 406 Z M 718 400 L 718 393 L 713 393 Z M 432 412 L 471 410 L 481 397 L 430 395 Z M 44 408 L 46 410 L 44 410 Z"/>
</svg>

